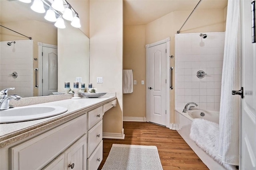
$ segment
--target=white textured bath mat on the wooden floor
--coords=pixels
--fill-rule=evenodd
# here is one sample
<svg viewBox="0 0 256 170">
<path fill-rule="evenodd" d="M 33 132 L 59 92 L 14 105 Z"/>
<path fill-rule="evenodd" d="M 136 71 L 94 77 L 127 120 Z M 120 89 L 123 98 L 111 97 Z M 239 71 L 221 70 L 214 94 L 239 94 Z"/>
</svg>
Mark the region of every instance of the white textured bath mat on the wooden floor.
<svg viewBox="0 0 256 170">
<path fill-rule="evenodd" d="M 156 146 L 113 144 L 102 170 L 163 170 Z"/>
</svg>

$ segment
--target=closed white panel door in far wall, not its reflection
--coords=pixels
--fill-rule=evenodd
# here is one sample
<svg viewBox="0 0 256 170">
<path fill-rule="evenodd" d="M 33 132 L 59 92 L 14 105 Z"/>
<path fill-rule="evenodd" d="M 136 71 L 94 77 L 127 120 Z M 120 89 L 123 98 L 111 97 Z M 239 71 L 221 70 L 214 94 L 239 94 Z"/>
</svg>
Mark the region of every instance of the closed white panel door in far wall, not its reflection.
<svg viewBox="0 0 256 170">
<path fill-rule="evenodd" d="M 166 126 L 166 43 L 148 50 L 148 121 Z"/>
</svg>

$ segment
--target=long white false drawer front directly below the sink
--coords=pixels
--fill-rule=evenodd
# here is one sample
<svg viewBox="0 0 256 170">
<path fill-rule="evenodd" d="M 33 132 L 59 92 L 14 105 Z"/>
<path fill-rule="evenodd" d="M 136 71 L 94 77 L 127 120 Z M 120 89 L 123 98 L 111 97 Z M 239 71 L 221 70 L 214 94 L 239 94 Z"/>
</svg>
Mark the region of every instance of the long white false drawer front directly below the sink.
<svg viewBox="0 0 256 170">
<path fill-rule="evenodd" d="M 10 148 L 10 169 L 41 169 L 86 133 L 86 122 L 87 115 L 84 114 Z"/>
</svg>

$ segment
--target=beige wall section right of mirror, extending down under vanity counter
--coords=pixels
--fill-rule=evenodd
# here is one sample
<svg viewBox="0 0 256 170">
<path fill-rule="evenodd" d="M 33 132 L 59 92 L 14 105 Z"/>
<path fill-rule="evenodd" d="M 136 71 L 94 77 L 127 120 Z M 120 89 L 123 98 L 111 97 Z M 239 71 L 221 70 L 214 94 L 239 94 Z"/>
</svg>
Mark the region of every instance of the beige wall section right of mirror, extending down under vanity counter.
<svg viewBox="0 0 256 170">
<path fill-rule="evenodd" d="M 123 2 L 90 0 L 90 82 L 116 92 L 118 104 L 103 117 L 103 132 L 122 133 Z M 97 84 L 96 78 L 103 77 Z"/>
</svg>

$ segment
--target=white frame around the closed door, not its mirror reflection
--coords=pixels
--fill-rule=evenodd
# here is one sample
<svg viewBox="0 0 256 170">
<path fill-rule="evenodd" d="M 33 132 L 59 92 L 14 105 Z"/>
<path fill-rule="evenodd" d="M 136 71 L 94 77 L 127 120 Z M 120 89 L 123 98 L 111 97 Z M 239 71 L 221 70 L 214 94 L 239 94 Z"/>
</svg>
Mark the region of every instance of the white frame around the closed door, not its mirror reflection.
<svg viewBox="0 0 256 170">
<path fill-rule="evenodd" d="M 146 88 L 148 88 L 148 69 L 149 69 L 149 62 L 148 62 L 148 58 L 149 58 L 149 48 L 150 47 L 154 47 L 156 45 L 160 45 L 160 44 L 164 44 L 166 43 L 166 127 L 170 128 L 170 37 L 167 37 L 166 39 L 163 39 L 161 41 L 157 41 L 155 43 L 151 43 L 151 44 L 146 44 Z M 148 117 L 149 117 L 149 94 L 148 94 L 148 89 L 146 89 L 146 121 L 148 122 Z"/>
</svg>

